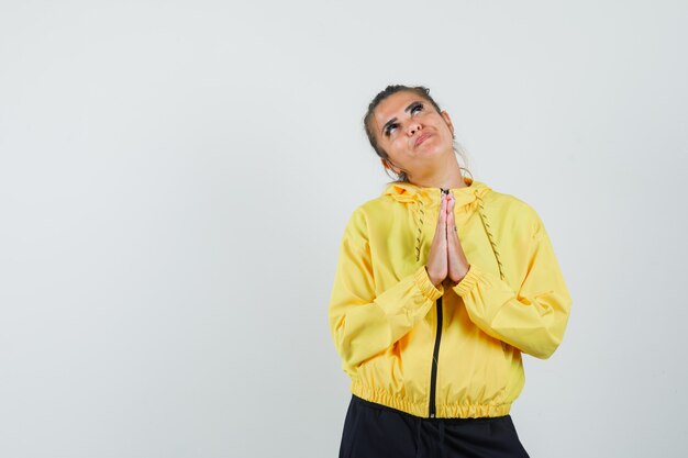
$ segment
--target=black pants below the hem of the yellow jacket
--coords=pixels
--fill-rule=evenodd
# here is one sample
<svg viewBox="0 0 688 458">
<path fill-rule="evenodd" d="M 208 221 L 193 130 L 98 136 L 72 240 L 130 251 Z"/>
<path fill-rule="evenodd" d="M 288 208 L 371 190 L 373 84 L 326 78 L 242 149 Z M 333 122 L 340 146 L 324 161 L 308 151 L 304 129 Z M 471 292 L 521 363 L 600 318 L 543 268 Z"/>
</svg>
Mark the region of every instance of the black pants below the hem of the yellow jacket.
<svg viewBox="0 0 688 458">
<path fill-rule="evenodd" d="M 510 415 L 421 418 L 352 395 L 340 458 L 529 458 Z"/>
</svg>

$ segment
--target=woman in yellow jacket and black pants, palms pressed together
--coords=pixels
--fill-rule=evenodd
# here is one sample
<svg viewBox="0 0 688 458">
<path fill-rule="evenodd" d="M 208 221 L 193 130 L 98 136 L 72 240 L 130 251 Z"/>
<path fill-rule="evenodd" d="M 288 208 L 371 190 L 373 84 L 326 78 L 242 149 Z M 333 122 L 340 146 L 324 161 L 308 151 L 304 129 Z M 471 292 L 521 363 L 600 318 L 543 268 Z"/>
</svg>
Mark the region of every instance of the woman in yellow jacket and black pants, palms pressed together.
<svg viewBox="0 0 688 458">
<path fill-rule="evenodd" d="M 546 359 L 572 299 L 525 202 L 462 175 L 424 87 L 389 86 L 364 120 L 399 179 L 358 206 L 329 308 L 352 379 L 341 457 L 528 457 L 509 415 L 521 353 Z"/>
</svg>

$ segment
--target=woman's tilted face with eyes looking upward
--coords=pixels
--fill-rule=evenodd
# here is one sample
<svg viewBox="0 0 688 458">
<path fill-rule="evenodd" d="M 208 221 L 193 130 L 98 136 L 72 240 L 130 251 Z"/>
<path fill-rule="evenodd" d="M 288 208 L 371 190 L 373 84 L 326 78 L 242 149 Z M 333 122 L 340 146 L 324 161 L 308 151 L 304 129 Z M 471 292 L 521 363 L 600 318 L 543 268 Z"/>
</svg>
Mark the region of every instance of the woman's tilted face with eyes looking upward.
<svg viewBox="0 0 688 458">
<path fill-rule="evenodd" d="M 454 126 L 446 111 L 409 91 L 393 93 L 373 112 L 377 144 L 387 153 L 385 167 L 409 178 L 432 172 L 453 155 Z"/>
</svg>

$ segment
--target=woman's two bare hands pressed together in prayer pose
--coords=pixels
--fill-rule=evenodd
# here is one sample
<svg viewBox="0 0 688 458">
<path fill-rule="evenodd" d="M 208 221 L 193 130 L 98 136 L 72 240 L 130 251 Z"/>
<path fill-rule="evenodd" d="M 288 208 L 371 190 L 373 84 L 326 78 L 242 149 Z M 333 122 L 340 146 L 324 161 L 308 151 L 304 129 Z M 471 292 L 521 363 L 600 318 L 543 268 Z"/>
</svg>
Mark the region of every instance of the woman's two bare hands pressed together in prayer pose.
<svg viewBox="0 0 688 458">
<path fill-rule="evenodd" d="M 442 193 L 437 227 L 428 256 L 428 277 L 437 287 L 442 282 L 458 283 L 468 272 L 468 259 L 458 239 L 454 221 L 454 196 Z"/>
</svg>

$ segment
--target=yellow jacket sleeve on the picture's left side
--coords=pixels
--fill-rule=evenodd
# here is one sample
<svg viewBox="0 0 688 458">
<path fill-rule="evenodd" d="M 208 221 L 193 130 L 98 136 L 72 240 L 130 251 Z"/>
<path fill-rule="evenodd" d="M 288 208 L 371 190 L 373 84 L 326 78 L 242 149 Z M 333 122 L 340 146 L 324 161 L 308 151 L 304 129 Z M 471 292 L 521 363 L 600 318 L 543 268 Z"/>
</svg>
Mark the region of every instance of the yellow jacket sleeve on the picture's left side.
<svg viewBox="0 0 688 458">
<path fill-rule="evenodd" d="M 340 246 L 329 306 L 330 331 L 342 368 L 349 375 L 366 359 L 390 348 L 442 295 L 425 266 L 376 295 L 376 279 L 365 216 L 352 215 Z"/>
</svg>

